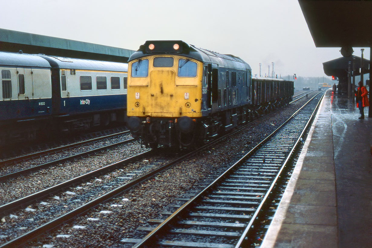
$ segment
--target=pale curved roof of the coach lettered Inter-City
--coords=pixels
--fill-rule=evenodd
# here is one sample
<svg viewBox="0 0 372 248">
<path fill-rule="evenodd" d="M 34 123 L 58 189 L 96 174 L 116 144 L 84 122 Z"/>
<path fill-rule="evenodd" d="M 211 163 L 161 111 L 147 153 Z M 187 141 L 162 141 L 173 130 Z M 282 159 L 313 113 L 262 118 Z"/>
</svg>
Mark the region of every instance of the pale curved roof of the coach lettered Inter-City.
<svg viewBox="0 0 372 248">
<path fill-rule="evenodd" d="M 126 63 L 92 59 L 65 58 L 44 54 L 39 54 L 38 56 L 46 59 L 52 68 L 98 71 L 128 71 L 128 64 Z"/>
</svg>

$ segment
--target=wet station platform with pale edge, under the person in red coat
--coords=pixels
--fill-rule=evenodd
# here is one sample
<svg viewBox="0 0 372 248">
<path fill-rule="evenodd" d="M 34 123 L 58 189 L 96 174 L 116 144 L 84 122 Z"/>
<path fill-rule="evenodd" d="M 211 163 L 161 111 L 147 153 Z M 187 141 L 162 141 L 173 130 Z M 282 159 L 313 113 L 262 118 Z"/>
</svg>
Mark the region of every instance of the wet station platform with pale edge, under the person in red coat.
<svg viewBox="0 0 372 248">
<path fill-rule="evenodd" d="M 328 90 L 260 247 L 372 247 L 372 118 Z"/>
</svg>

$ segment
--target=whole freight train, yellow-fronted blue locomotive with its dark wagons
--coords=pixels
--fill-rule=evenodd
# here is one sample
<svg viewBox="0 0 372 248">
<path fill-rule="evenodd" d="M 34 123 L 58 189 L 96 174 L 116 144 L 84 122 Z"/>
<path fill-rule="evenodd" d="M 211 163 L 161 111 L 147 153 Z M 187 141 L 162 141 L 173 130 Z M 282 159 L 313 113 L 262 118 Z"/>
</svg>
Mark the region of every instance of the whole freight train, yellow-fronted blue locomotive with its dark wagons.
<svg viewBox="0 0 372 248">
<path fill-rule="evenodd" d="M 294 82 L 252 77 L 239 57 L 146 41 L 128 61 L 127 126 L 141 144 L 192 148 L 289 103 Z"/>
</svg>

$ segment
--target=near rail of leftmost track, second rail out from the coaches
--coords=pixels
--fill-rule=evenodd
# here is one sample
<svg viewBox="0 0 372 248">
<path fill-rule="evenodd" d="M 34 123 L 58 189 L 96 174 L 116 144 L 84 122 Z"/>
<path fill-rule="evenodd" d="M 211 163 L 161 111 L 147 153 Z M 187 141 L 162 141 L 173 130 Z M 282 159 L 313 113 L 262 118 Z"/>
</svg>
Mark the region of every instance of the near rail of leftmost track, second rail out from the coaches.
<svg viewBox="0 0 372 248">
<path fill-rule="evenodd" d="M 121 141 L 121 142 L 117 142 L 115 144 L 111 144 L 111 145 L 106 145 L 106 146 L 102 146 L 102 147 L 99 147 L 99 148 L 95 148 L 95 149 L 92 149 L 90 151 L 81 152 L 79 154 L 71 155 L 71 156 L 68 156 L 68 157 L 65 157 L 65 158 L 60 158 L 58 160 L 54 160 L 54 161 L 47 162 L 47 163 L 44 163 L 44 164 L 35 165 L 33 167 L 30 167 L 30 168 L 27 168 L 27 169 L 24 169 L 24 170 L 20 170 L 20 171 L 16 171 L 16 172 L 13 172 L 13 173 L 6 174 L 6 175 L 2 175 L 2 176 L 0 176 L 0 182 L 1 181 L 5 181 L 5 180 L 7 180 L 9 178 L 17 177 L 17 176 L 22 175 L 22 174 L 30 173 L 32 171 L 36 171 L 36 170 L 40 170 L 40 169 L 43 169 L 43 168 L 47 168 L 47 167 L 50 167 L 50 166 L 55 165 L 55 164 L 58 164 L 58 163 L 62 163 L 62 162 L 65 162 L 65 161 L 74 160 L 76 158 L 85 157 L 85 156 L 87 156 L 89 154 L 96 153 L 96 152 L 102 151 L 104 149 L 111 148 L 113 146 L 118 146 L 118 145 L 126 144 L 126 143 L 129 143 L 129 142 L 132 142 L 132 141 L 134 141 L 134 138 L 127 139 L 127 140 Z"/>
</svg>

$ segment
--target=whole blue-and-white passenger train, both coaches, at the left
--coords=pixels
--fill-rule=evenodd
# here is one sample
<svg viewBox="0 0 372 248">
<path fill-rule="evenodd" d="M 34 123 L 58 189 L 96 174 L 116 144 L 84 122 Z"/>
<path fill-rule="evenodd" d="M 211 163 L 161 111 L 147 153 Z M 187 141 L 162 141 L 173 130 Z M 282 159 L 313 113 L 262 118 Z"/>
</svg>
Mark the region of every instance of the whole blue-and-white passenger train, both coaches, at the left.
<svg viewBox="0 0 372 248">
<path fill-rule="evenodd" d="M 0 146 L 124 121 L 128 64 L 0 52 Z"/>
</svg>

